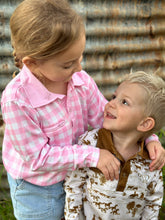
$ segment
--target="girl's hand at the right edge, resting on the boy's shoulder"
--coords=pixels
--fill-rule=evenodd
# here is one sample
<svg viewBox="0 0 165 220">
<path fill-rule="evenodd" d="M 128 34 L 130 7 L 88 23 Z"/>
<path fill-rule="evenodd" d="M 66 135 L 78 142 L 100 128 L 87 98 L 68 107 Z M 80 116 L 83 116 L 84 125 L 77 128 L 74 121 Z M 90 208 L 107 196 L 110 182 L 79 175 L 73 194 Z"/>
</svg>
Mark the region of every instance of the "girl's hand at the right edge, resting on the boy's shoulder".
<svg viewBox="0 0 165 220">
<path fill-rule="evenodd" d="M 165 164 L 165 149 L 157 141 L 152 141 L 147 144 L 147 150 L 152 160 L 150 171 L 160 170 Z"/>
</svg>

